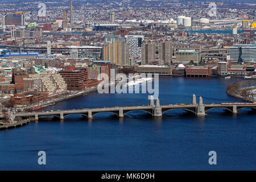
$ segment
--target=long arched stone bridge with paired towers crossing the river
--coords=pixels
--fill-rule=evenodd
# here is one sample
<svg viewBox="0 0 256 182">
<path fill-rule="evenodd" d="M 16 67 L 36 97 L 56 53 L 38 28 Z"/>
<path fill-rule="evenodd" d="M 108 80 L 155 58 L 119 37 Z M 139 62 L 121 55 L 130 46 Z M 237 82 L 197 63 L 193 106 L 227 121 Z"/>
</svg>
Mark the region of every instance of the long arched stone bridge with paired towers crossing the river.
<svg viewBox="0 0 256 182">
<path fill-rule="evenodd" d="M 92 108 L 92 109 L 73 109 L 73 110 L 57 110 L 57 111 L 46 111 L 46 112 L 27 112 L 27 113 L 11 113 L 14 117 L 21 118 L 34 118 L 36 121 L 40 117 L 44 116 L 54 116 L 60 119 L 64 119 L 65 116 L 71 114 L 80 114 L 84 115 L 88 119 L 93 119 L 93 115 L 98 113 L 113 113 L 118 117 L 124 117 L 125 114 L 130 113 L 131 111 L 144 111 L 154 117 L 162 117 L 164 113 L 170 110 L 185 110 L 191 112 L 197 116 L 206 115 L 207 111 L 222 108 L 227 111 L 230 111 L 234 114 L 237 114 L 238 111 L 246 108 L 251 108 L 256 110 L 256 103 L 228 103 L 228 104 L 203 104 L 203 98 L 199 98 L 199 103 L 197 104 L 196 96 L 193 94 L 191 104 L 181 104 L 181 105 L 160 105 L 160 101 L 157 98 L 154 101 L 154 98 L 151 96 L 150 105 L 143 106 L 125 106 L 125 107 L 104 107 L 104 108 Z M 4 115 L 1 114 L 0 118 L 3 118 Z"/>
</svg>

